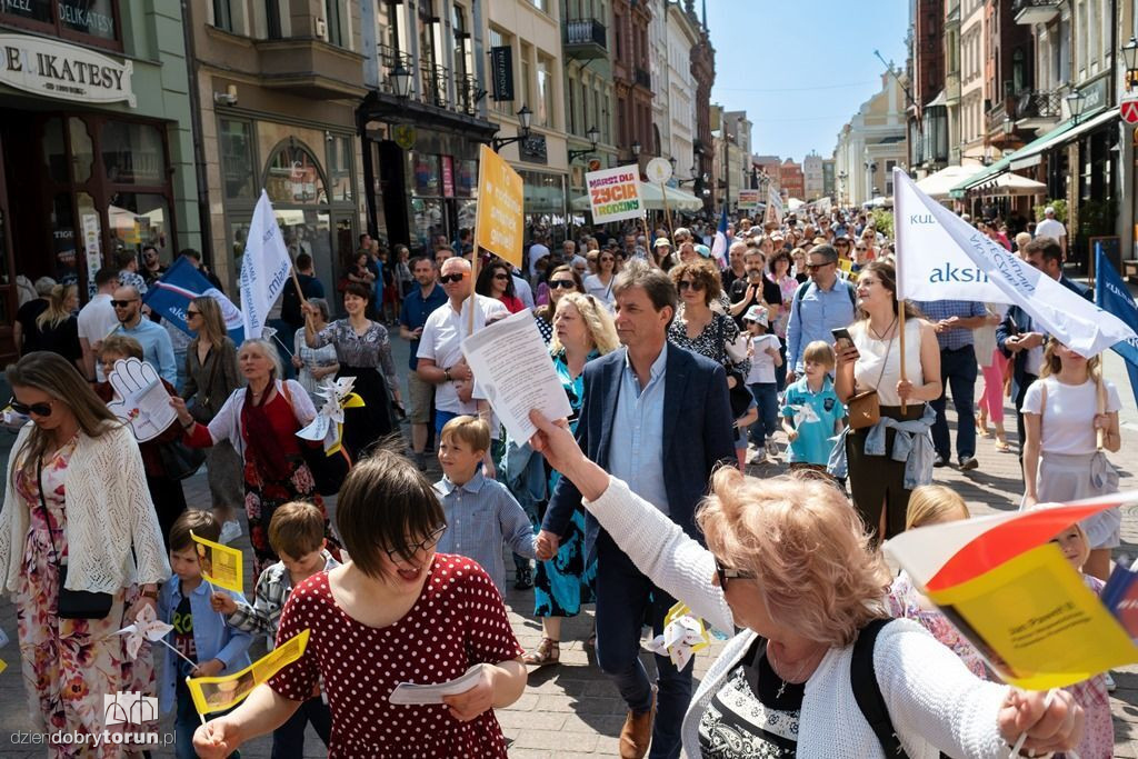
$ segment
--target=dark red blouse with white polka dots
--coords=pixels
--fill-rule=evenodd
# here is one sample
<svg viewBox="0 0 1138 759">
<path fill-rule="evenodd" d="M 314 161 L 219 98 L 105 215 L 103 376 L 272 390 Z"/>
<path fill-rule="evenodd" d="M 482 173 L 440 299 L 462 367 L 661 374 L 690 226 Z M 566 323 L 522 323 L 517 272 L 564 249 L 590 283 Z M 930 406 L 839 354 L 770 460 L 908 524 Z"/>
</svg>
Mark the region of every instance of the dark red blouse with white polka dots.
<svg viewBox="0 0 1138 759">
<path fill-rule="evenodd" d="M 443 704 L 396 706 L 399 683 L 445 683 L 472 665 L 522 654 L 502 596 L 465 556 L 437 553 L 419 599 L 398 621 L 369 627 L 332 597 L 328 574 L 299 584 L 281 614 L 277 645 L 308 629 L 304 655 L 269 680 L 305 701 L 323 682 L 332 712 L 329 757 L 502 757 L 502 727 L 488 710 L 469 723 Z"/>
</svg>

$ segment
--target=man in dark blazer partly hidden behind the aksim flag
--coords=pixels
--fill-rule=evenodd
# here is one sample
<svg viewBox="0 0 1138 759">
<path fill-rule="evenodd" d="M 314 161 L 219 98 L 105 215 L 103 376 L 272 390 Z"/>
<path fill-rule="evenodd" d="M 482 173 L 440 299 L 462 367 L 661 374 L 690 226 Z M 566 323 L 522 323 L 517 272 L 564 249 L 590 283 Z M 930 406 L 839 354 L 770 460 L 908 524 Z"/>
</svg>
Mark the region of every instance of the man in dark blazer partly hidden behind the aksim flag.
<svg viewBox="0 0 1138 759">
<path fill-rule="evenodd" d="M 1029 264 L 1066 289 L 1094 300 L 1090 288 L 1063 274 L 1063 247 L 1055 238 L 1037 237 L 1023 247 L 1022 255 Z M 1004 321 L 996 327 L 996 347 L 1013 360 L 1012 397 L 1015 398 L 1015 428 L 1020 434 L 1021 465 L 1023 465 L 1023 398 L 1028 395 L 1031 383 L 1039 379 L 1046 343 L 1047 333 L 1037 328 L 1031 314 L 1017 305 L 1008 308 Z"/>
</svg>

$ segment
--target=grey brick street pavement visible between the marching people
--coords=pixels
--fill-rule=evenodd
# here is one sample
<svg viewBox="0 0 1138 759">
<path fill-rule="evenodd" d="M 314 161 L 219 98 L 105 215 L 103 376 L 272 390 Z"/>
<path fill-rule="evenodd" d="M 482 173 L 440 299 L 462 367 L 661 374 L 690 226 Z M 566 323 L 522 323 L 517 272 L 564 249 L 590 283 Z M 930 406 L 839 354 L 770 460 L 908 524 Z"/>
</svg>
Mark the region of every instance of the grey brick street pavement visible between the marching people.
<svg viewBox="0 0 1138 759">
<path fill-rule="evenodd" d="M 402 362 L 399 362 L 402 364 Z M 1012 437 L 1014 438 L 1014 416 Z M 7 436 L 0 432 L 0 436 Z M 6 460 L 10 437 L 0 437 L 0 453 Z M 1123 451 L 1133 451 L 1138 445 L 1138 426 L 1124 424 Z M 1022 478 L 1015 454 L 1001 454 L 995 449 L 991 439 L 979 440 L 979 470 L 960 472 L 955 468 L 935 470 L 938 482 L 957 489 L 968 502 L 974 515 L 1015 509 L 1022 492 Z M 1135 459 L 1112 456 L 1115 464 L 1124 464 L 1121 471 L 1122 489 L 1138 488 L 1138 471 Z M 435 475 L 438 470 L 435 469 Z M 769 477 L 778 473 L 775 465 L 752 467 L 751 473 Z M 204 475 L 187 480 L 187 500 L 192 505 L 208 503 L 208 489 Z M 335 498 L 329 509 L 335 513 Z M 1123 520 L 1123 545 L 1119 550 L 1131 556 L 1138 555 L 1138 514 L 1136 508 L 1128 510 Z M 248 541 L 239 544 L 248 550 Z M 506 566 L 512 563 L 508 560 Z M 249 564 L 246 572 L 249 575 Z M 246 586 L 253 587 L 251 576 Z M 519 641 L 530 649 L 541 638 L 541 625 L 533 618 L 530 592 L 512 588 L 506 593 L 510 620 Z M 10 745 L 9 736 L 28 726 L 25 692 L 19 676 L 18 652 L 15 644 L 15 609 L 7 600 L 0 600 L 0 628 L 8 633 L 13 643 L 0 650 L 0 658 L 9 663 L 9 669 L 0 675 L 0 756 L 13 759 L 41 757 L 43 751 L 31 746 Z M 562 628 L 561 665 L 530 674 L 529 684 L 521 699 L 498 711 L 498 720 L 511 741 L 510 756 L 518 759 L 578 757 L 613 757 L 617 753 L 617 736 L 624 720 L 624 706 L 616 688 L 596 667 L 591 652 L 583 646 L 592 628 L 592 611 L 582 617 L 566 620 Z M 720 643 L 696 657 L 696 676 L 702 675 L 710 661 L 718 655 Z M 257 650 L 257 654 L 262 650 Z M 643 653 L 645 662 L 650 654 Z M 651 669 L 651 665 L 648 665 Z M 1119 690 L 1113 694 L 1112 709 L 1115 723 L 1115 756 L 1138 759 L 1138 667 L 1128 667 L 1115 673 Z M 163 720 L 163 731 L 171 729 L 170 719 Z M 308 729 L 305 757 L 325 756 L 319 739 Z M 241 751 L 249 759 L 270 756 L 270 740 L 251 741 Z M 157 756 L 172 756 L 172 751 L 160 751 Z"/>
</svg>

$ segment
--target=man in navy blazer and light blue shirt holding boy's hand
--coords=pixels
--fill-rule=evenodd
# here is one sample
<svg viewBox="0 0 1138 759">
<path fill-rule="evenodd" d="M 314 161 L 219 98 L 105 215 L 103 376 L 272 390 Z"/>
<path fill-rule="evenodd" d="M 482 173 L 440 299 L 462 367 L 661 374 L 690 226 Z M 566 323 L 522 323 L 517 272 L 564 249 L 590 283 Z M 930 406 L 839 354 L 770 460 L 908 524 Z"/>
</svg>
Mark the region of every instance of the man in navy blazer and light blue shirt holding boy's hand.
<svg viewBox="0 0 1138 759">
<path fill-rule="evenodd" d="M 585 365 L 577 440 L 585 454 L 667 513 L 692 537 L 695 506 L 720 462 L 735 460 L 733 419 L 723 366 L 668 345 L 676 288 L 659 269 L 634 262 L 613 286 L 617 333 L 625 347 Z M 556 551 L 580 493 L 562 477 L 550 500 L 538 558 Z M 681 723 L 692 695 L 692 666 L 682 671 L 657 657 L 659 698 L 640 661 L 641 626 L 655 634 L 675 603 L 636 569 L 588 515 L 586 552 L 596 555 L 596 658 L 628 704 L 620 756 L 678 757 Z M 657 702 L 655 726 L 652 725 Z"/>
</svg>

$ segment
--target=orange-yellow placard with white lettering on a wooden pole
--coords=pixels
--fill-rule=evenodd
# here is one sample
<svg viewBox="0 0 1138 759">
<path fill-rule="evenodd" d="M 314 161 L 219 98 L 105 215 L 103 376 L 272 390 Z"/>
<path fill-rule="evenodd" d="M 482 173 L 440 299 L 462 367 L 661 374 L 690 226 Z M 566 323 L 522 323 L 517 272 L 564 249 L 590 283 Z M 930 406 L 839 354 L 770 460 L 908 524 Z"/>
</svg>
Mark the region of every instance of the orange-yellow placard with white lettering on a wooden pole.
<svg viewBox="0 0 1138 759">
<path fill-rule="evenodd" d="M 521 175 L 485 145 L 478 151 L 475 245 L 521 266 L 525 193 Z"/>
</svg>

